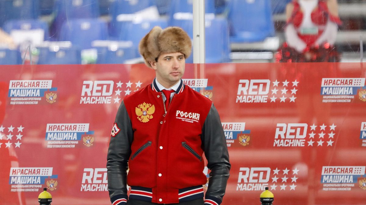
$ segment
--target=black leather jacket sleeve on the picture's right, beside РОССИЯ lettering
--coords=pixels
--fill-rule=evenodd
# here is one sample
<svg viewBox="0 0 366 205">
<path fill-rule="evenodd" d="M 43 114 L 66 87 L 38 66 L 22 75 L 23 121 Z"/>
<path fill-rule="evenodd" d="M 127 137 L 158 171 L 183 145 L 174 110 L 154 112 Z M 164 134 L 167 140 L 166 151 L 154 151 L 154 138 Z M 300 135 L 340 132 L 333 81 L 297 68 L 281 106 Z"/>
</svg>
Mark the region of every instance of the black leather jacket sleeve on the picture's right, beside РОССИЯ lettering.
<svg viewBox="0 0 366 205">
<path fill-rule="evenodd" d="M 222 202 L 231 165 L 223 126 L 213 104 L 203 124 L 201 139 L 211 170 L 206 199 L 215 197 Z"/>
</svg>

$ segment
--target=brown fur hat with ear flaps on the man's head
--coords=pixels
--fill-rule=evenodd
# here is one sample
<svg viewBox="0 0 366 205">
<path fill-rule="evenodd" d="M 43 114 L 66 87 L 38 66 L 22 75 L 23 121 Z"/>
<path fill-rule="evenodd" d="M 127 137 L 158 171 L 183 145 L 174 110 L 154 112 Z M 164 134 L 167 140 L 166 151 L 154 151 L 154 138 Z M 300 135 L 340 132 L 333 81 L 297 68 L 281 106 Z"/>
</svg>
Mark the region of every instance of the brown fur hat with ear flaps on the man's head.
<svg viewBox="0 0 366 205">
<path fill-rule="evenodd" d="M 162 53 L 180 52 L 185 58 L 191 54 L 192 43 L 188 34 L 179 27 L 168 27 L 164 30 L 155 26 L 139 43 L 140 54 L 145 64 L 154 61 Z"/>
</svg>

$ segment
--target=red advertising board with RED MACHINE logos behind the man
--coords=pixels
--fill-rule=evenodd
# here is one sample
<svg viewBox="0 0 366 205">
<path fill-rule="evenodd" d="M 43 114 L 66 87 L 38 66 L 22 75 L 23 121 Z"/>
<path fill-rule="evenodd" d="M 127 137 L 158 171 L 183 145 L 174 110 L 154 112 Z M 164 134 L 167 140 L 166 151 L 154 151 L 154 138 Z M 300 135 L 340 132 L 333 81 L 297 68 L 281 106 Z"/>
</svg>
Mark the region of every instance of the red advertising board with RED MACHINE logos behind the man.
<svg viewBox="0 0 366 205">
<path fill-rule="evenodd" d="M 365 204 L 365 63 L 187 64 L 219 111 L 231 171 L 223 205 Z M 0 66 L 0 204 L 110 204 L 106 158 L 135 65 Z M 205 171 L 205 170 L 202 170 Z"/>
</svg>

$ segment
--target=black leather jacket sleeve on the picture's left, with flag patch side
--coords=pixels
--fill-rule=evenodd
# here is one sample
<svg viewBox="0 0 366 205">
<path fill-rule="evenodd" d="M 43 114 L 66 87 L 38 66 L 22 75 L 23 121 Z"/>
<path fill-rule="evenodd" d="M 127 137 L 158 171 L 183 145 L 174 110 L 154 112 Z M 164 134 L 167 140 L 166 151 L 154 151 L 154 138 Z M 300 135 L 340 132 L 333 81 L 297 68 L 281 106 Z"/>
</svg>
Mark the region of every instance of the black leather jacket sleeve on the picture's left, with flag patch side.
<svg viewBox="0 0 366 205">
<path fill-rule="evenodd" d="M 127 198 L 127 162 L 131 155 L 133 130 L 123 101 L 118 109 L 115 123 L 120 130 L 116 136 L 111 136 L 107 154 L 108 191 L 111 201 Z"/>
</svg>

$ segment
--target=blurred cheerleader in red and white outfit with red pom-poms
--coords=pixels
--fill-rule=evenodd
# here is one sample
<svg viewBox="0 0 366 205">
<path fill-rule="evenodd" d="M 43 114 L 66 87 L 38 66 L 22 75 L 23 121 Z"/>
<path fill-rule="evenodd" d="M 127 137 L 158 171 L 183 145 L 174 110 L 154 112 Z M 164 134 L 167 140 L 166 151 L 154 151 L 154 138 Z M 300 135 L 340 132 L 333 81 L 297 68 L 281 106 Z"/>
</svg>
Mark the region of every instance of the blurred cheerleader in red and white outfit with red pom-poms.
<svg viewBox="0 0 366 205">
<path fill-rule="evenodd" d="M 336 0 L 294 0 L 286 7 L 286 41 L 277 62 L 339 62 L 334 47 L 338 26 Z"/>
</svg>

